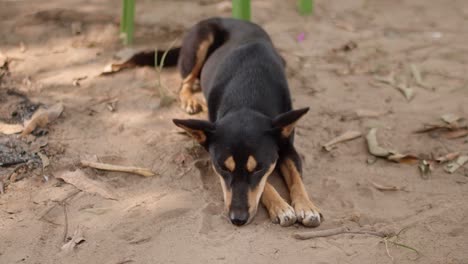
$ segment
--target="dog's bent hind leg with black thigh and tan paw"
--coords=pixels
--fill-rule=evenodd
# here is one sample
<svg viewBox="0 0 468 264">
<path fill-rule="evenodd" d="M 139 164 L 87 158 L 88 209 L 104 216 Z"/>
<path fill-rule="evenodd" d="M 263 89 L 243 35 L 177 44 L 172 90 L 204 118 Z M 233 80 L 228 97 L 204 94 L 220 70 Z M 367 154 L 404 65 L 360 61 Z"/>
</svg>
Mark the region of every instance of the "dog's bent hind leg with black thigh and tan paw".
<svg viewBox="0 0 468 264">
<path fill-rule="evenodd" d="M 179 70 L 183 81 L 179 99 L 182 108 L 189 114 L 198 113 L 204 106 L 195 98 L 194 92 L 200 90 L 200 73 L 209 53 L 213 50 L 212 45 L 216 37 L 216 27 L 212 23 L 202 22 L 187 33 L 182 43 Z"/>
</svg>

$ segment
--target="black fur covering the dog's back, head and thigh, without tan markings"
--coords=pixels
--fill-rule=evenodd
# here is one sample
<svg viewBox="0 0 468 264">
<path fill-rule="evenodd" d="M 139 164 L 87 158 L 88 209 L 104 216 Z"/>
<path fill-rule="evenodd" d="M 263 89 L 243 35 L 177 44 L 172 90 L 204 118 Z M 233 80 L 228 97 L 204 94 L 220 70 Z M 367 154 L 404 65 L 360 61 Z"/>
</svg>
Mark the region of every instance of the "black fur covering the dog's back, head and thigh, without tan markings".
<svg viewBox="0 0 468 264">
<path fill-rule="evenodd" d="M 290 158 L 300 169 L 293 146 L 294 133 L 285 137 L 282 131 L 293 126 L 308 108 L 292 110 L 284 60 L 267 33 L 246 21 L 212 18 L 195 25 L 180 50 L 182 77 L 190 73 L 199 44 L 210 34 L 214 42 L 199 76 L 209 121 L 174 123 L 185 129 L 195 124 L 190 129 L 204 133 L 206 141 L 202 145 L 232 192 L 231 220 L 242 224 L 245 221 L 236 217 L 249 217 L 249 207 L 253 206 L 248 204 L 247 193 L 258 186 L 272 164 Z M 236 162 L 234 171 L 224 165 L 229 156 Z M 257 160 L 253 172 L 245 168 L 249 156 Z"/>
</svg>

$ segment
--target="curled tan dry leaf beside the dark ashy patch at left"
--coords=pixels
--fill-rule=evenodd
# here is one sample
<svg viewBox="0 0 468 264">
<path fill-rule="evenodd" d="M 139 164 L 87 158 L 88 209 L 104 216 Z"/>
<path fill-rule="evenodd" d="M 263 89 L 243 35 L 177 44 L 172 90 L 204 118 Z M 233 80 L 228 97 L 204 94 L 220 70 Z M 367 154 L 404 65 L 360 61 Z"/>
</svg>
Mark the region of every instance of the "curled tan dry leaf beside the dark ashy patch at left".
<svg viewBox="0 0 468 264">
<path fill-rule="evenodd" d="M 55 121 L 63 112 L 63 104 L 57 103 L 48 109 L 39 108 L 31 117 L 24 122 L 24 130 L 21 136 L 27 136 L 37 127 L 45 127 Z"/>
</svg>

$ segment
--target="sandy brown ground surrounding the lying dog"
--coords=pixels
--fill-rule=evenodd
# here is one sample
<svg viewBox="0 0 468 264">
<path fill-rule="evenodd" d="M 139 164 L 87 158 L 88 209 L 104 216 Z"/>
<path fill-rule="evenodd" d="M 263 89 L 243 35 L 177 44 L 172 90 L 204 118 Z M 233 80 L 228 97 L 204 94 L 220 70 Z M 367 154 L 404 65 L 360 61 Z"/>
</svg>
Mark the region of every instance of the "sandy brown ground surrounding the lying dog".
<svg viewBox="0 0 468 264">
<path fill-rule="evenodd" d="M 292 234 L 309 229 L 275 225 L 264 209 L 248 226 L 229 224 L 206 154 L 172 125 L 172 118 L 188 116 L 177 104 L 160 105 L 155 71 L 97 76 L 122 49 L 117 2 L 0 1 L 0 51 L 13 58 L 0 89 L 65 106 L 47 135 L 29 138 L 46 141 L 41 152 L 50 166 L 44 174 L 26 172 L 0 195 L 0 263 L 468 263 L 468 168 L 447 174 L 439 167 L 423 179 L 416 165 L 368 164 L 363 138 L 321 150 L 345 131 L 378 127 L 379 140 L 401 152 L 466 154 L 466 138 L 412 133 L 442 114 L 468 117 L 466 1 L 316 1 L 316 15 L 309 18 L 296 14 L 295 1 L 252 1 L 253 20 L 287 60 L 295 106 L 311 107 L 296 145 L 305 160 L 307 190 L 326 218 L 317 230 L 405 228 L 397 241 L 419 255 L 366 235 L 299 241 Z M 138 0 L 135 47 L 165 48 L 196 21 L 229 16 L 218 2 Z M 77 22 L 81 34 L 74 35 L 71 25 Z M 298 41 L 301 33 L 304 40 Z M 340 50 L 350 41 L 357 48 Z M 434 90 L 413 85 L 408 102 L 374 79 L 394 72 L 411 81 L 411 64 Z M 72 85 L 85 76 L 80 86 Z M 165 69 L 162 82 L 175 96 L 176 70 Z M 114 101 L 111 112 L 108 103 Z M 385 114 L 350 118 L 357 109 Z M 96 156 L 158 175 L 78 165 Z M 12 169 L 0 168 L 0 176 Z M 55 179 L 70 172 L 84 173 L 113 199 Z M 383 192 L 372 183 L 404 190 Z M 64 237 L 76 230 L 85 241 L 61 250 Z"/>
</svg>

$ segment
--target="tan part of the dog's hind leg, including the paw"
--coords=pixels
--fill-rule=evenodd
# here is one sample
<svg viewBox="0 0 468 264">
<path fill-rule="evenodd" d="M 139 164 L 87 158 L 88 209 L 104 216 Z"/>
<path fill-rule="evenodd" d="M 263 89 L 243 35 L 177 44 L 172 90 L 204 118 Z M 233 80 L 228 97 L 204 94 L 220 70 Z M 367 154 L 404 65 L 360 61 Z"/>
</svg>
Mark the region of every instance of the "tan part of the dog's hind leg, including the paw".
<svg viewBox="0 0 468 264">
<path fill-rule="evenodd" d="M 208 49 L 213 43 L 213 35 L 210 34 L 208 39 L 204 40 L 198 46 L 197 56 L 195 66 L 193 66 L 190 74 L 182 81 L 182 88 L 179 92 L 179 99 L 182 105 L 182 108 L 189 114 L 196 114 L 206 107 L 203 106 L 203 102 L 200 102 L 195 98 L 194 86 L 197 81 L 197 76 L 200 74 L 200 71 L 205 62 Z"/>
</svg>

